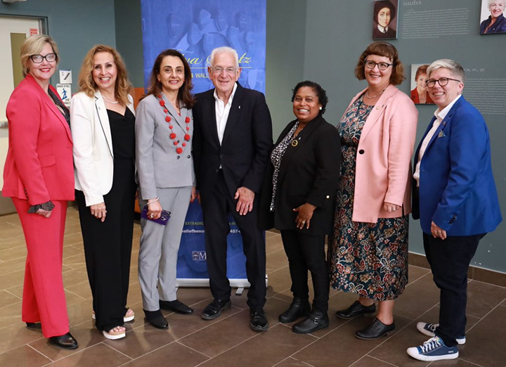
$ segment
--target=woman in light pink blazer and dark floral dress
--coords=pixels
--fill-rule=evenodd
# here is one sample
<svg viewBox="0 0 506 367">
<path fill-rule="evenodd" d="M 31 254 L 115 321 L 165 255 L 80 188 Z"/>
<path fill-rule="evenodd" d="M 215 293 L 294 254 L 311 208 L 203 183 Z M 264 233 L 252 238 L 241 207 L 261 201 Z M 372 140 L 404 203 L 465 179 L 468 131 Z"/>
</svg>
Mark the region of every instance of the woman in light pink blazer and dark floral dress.
<svg viewBox="0 0 506 367">
<path fill-rule="evenodd" d="M 376 311 L 359 339 L 372 340 L 395 328 L 394 300 L 408 283 L 410 160 L 418 112 L 401 84 L 404 67 L 391 44 L 370 44 L 358 59 L 357 79 L 368 87 L 357 94 L 338 125 L 341 181 L 334 233 L 329 246 L 330 284 L 359 298 L 337 311 L 353 318 Z"/>
</svg>

